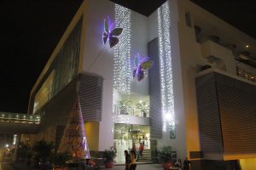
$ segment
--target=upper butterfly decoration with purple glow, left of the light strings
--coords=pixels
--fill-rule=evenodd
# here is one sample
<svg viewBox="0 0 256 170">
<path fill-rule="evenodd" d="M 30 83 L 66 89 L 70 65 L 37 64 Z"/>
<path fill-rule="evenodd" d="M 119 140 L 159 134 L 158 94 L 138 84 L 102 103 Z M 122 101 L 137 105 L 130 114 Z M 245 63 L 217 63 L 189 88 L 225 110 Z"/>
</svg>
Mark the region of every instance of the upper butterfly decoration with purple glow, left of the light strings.
<svg viewBox="0 0 256 170">
<path fill-rule="evenodd" d="M 123 28 L 114 28 L 112 30 L 113 24 L 110 24 L 109 18 L 108 20 L 104 20 L 104 32 L 103 32 L 103 43 L 104 45 L 109 42 L 109 47 L 113 48 L 119 42 L 119 35 L 123 32 Z"/>
</svg>

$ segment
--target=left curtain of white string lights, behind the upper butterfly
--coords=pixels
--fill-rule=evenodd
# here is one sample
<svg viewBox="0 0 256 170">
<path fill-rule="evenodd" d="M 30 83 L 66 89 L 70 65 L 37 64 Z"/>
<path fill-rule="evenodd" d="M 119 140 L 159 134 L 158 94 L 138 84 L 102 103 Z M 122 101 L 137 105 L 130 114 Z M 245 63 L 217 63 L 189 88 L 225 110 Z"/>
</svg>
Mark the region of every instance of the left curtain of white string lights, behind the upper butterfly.
<svg viewBox="0 0 256 170">
<path fill-rule="evenodd" d="M 115 4 L 116 27 L 124 29 L 113 53 L 113 88 L 130 94 L 131 86 L 131 10 Z"/>
</svg>

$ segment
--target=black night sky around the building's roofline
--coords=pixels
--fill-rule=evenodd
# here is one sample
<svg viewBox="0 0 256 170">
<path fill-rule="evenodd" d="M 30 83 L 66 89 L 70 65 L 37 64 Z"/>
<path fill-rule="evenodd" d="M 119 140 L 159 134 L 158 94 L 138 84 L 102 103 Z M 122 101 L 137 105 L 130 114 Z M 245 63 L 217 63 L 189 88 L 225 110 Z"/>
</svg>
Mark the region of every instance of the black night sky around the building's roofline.
<svg viewBox="0 0 256 170">
<path fill-rule="evenodd" d="M 150 3 L 151 1 L 153 3 L 157 0 L 150 0 Z M 192 1 L 256 38 L 256 2 Z M 26 113 L 33 84 L 82 2 L 83 0 L 0 2 L 0 111 Z"/>
</svg>

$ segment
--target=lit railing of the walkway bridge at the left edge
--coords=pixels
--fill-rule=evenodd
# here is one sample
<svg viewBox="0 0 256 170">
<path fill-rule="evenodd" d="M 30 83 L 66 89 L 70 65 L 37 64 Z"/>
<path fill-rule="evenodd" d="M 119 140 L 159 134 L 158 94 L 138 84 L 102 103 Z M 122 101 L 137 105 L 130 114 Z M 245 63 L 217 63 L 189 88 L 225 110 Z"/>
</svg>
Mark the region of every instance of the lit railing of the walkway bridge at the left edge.
<svg viewBox="0 0 256 170">
<path fill-rule="evenodd" d="M 0 122 L 22 122 L 39 124 L 41 117 L 22 113 L 0 112 Z"/>
</svg>

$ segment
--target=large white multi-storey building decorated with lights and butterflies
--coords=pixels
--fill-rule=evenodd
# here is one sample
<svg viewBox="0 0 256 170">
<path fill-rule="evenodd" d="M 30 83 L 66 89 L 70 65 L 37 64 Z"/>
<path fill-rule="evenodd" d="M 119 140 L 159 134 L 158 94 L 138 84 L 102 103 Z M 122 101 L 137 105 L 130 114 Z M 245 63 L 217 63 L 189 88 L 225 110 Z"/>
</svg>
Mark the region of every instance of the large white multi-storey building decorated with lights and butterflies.
<svg viewBox="0 0 256 170">
<path fill-rule="evenodd" d="M 194 169 L 255 165 L 252 56 L 255 39 L 189 0 L 169 0 L 149 16 L 85 0 L 32 88 L 28 113 L 42 120 L 27 136 L 58 145 L 79 96 L 90 150 L 112 148 L 119 163 L 143 143 L 149 161 L 171 145 Z M 143 70 L 144 57 L 151 68 Z"/>
</svg>

